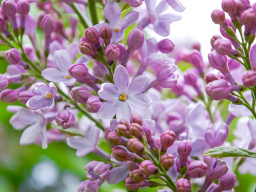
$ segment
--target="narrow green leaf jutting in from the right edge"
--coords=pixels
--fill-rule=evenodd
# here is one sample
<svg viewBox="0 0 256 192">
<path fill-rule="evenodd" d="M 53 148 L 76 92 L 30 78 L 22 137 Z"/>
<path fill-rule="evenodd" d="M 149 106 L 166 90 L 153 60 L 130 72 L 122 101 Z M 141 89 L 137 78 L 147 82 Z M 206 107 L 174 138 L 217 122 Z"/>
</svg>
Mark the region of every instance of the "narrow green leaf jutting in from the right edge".
<svg viewBox="0 0 256 192">
<path fill-rule="evenodd" d="M 223 157 L 252 157 L 256 158 L 256 152 L 238 147 L 214 147 L 207 150 L 202 156 L 216 158 Z"/>
</svg>

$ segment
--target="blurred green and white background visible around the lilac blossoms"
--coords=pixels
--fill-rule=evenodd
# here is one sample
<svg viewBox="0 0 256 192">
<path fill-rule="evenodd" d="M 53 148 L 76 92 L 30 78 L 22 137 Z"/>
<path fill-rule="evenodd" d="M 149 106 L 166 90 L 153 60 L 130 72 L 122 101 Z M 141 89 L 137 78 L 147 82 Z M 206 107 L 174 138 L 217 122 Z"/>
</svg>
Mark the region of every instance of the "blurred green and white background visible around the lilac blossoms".
<svg viewBox="0 0 256 192">
<path fill-rule="evenodd" d="M 202 54 L 206 59 L 207 53 L 211 50 L 209 43 L 211 36 L 220 33 L 218 26 L 211 21 L 211 11 L 221 8 L 221 0 L 181 1 L 187 9 L 184 13 L 180 13 L 183 17 L 182 20 L 172 24 L 169 37 L 177 47 L 189 48 L 193 42 L 200 42 Z M 149 33 L 148 37 L 150 36 L 156 35 Z M 2 74 L 6 72 L 8 65 L 3 58 L 5 50 L 6 46 L 0 44 L 0 73 Z M 227 106 L 228 103 L 221 109 L 223 117 L 228 115 Z M 80 182 L 86 179 L 84 166 L 92 160 L 100 161 L 99 157 L 93 154 L 77 157 L 76 150 L 68 147 L 65 142 L 53 142 L 46 150 L 38 145 L 20 146 L 19 139 L 22 131 L 14 130 L 9 124 L 13 114 L 8 113 L 6 107 L 7 104 L 0 102 L 0 192 L 76 191 Z M 230 135 L 228 136 L 230 142 L 234 139 L 232 129 L 235 127 L 236 121 L 232 122 L 230 126 Z M 106 143 L 100 143 L 100 146 L 105 147 L 106 150 L 108 148 Z M 255 176 L 238 174 L 237 179 L 239 186 L 236 187 L 236 191 L 255 191 Z M 121 182 L 110 186 L 105 182 L 99 191 L 127 191 L 124 185 L 124 182 Z M 139 189 L 138 191 L 143 190 Z M 145 191 L 156 191 L 156 189 L 148 188 Z M 196 188 L 193 191 L 196 191 Z"/>
</svg>

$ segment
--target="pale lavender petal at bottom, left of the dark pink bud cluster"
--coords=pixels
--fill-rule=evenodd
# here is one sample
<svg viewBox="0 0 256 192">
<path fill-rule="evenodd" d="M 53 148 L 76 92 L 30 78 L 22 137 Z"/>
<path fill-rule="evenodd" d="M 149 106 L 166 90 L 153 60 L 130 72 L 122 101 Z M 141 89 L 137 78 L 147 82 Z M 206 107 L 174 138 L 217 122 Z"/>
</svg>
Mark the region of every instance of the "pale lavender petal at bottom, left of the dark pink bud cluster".
<svg viewBox="0 0 256 192">
<path fill-rule="evenodd" d="M 113 168 L 109 172 L 107 182 L 108 184 L 111 184 L 111 185 L 116 184 L 124 180 L 128 174 L 129 174 L 129 171 L 127 170 L 126 166 L 118 166 L 116 168 Z"/>
</svg>

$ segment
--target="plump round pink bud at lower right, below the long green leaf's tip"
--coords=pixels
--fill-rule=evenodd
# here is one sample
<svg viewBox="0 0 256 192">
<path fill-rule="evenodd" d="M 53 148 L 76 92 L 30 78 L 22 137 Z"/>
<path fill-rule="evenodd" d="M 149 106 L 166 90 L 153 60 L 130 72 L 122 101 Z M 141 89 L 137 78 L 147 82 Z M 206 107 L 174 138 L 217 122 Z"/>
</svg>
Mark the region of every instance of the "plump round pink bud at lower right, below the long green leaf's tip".
<svg viewBox="0 0 256 192">
<path fill-rule="evenodd" d="M 188 173 L 190 177 L 203 177 L 205 170 L 208 168 L 203 161 L 192 161 L 188 166 Z"/>
</svg>

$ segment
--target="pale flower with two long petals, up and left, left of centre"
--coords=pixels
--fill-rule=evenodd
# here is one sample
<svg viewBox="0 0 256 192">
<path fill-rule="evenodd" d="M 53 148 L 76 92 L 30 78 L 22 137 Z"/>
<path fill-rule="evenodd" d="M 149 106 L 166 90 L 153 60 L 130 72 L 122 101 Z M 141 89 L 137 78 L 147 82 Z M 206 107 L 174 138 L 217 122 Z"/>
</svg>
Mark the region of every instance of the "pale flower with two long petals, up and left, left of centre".
<svg viewBox="0 0 256 192">
<path fill-rule="evenodd" d="M 60 51 L 55 51 L 54 59 L 60 70 L 56 68 L 45 68 L 42 72 L 42 76 L 48 81 L 56 83 L 63 82 L 67 86 L 74 85 L 76 79 L 68 74 L 68 68 L 72 64 L 72 61 L 67 50 L 62 49 Z"/>
</svg>

